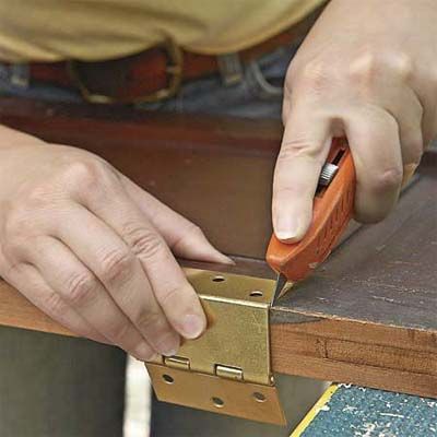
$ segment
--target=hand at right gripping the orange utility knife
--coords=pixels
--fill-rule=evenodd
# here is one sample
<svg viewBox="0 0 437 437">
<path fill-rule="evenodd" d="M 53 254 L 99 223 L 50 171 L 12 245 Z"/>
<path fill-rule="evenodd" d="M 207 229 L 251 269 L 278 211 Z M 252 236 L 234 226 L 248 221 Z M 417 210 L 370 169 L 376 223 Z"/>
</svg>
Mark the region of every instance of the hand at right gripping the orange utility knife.
<svg viewBox="0 0 437 437">
<path fill-rule="evenodd" d="M 279 239 L 303 238 L 333 137 L 346 137 L 355 218 L 383 218 L 437 134 L 436 0 L 332 0 L 292 61 L 273 185 Z"/>
</svg>

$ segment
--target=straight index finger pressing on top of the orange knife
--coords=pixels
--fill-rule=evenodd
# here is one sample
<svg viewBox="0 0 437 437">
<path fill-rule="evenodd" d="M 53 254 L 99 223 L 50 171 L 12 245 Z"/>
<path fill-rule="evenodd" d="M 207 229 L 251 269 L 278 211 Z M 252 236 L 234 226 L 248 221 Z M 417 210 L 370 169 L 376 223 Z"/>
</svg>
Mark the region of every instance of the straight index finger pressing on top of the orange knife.
<svg viewBox="0 0 437 437">
<path fill-rule="evenodd" d="M 273 228 L 285 243 L 300 240 L 331 143 L 331 122 L 305 104 L 291 108 L 273 179 Z"/>
</svg>

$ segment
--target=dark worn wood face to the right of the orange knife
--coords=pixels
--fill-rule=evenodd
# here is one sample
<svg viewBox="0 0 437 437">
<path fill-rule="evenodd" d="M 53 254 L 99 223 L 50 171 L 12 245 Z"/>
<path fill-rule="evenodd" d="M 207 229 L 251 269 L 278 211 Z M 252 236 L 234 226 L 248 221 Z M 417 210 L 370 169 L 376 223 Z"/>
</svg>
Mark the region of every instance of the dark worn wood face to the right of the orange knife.
<svg viewBox="0 0 437 437">
<path fill-rule="evenodd" d="M 361 227 L 281 306 L 315 314 L 329 308 L 333 317 L 437 330 L 436 201 L 437 178 L 422 176 L 391 216 Z"/>
</svg>

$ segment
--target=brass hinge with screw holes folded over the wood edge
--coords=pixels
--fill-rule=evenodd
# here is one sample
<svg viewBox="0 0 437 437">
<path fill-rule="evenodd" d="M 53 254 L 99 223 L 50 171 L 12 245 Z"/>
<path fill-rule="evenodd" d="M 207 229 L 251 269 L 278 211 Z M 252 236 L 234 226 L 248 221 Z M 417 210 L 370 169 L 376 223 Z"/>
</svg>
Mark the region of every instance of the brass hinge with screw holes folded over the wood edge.
<svg viewBox="0 0 437 437">
<path fill-rule="evenodd" d="M 269 309 L 275 282 L 186 269 L 208 317 L 208 330 L 177 356 L 146 363 L 166 402 L 259 422 L 285 424 L 270 358 Z"/>
</svg>

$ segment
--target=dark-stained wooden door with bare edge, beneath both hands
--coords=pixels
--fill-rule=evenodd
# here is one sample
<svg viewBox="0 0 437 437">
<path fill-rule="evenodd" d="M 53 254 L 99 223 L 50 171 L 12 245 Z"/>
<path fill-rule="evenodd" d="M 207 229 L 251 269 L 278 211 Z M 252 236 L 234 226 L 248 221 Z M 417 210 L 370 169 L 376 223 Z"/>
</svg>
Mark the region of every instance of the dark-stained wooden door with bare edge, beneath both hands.
<svg viewBox="0 0 437 437">
<path fill-rule="evenodd" d="M 277 122 L 12 99 L 0 122 L 102 155 L 244 257 L 245 270 L 272 274 L 262 260 Z M 355 231 L 272 308 L 274 370 L 437 398 L 436 200 L 429 152 L 390 217 Z M 0 323 L 68 333 L 5 283 Z"/>
</svg>

